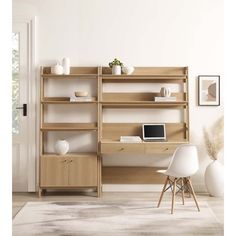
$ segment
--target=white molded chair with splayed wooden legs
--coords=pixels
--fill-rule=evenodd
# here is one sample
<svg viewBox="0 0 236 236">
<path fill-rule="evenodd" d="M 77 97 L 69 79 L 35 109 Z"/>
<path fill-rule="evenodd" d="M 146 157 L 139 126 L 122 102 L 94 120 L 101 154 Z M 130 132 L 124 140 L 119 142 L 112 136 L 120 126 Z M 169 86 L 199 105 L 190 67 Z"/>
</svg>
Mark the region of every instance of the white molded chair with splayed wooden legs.
<svg viewBox="0 0 236 236">
<path fill-rule="evenodd" d="M 193 190 L 193 186 L 190 180 L 190 176 L 194 175 L 199 168 L 198 165 L 198 154 L 197 148 L 193 145 L 181 145 L 179 146 L 171 159 L 167 170 L 158 170 L 157 172 L 166 175 L 166 180 L 161 192 L 161 196 L 157 207 L 160 206 L 164 192 L 168 189 L 172 190 L 172 206 L 171 214 L 174 212 L 174 203 L 176 195 L 176 187 L 179 189 L 178 192 L 182 192 L 182 201 L 184 205 L 184 191 L 187 190 L 189 194 L 193 195 L 193 199 L 196 203 L 198 211 L 200 211 L 196 195 Z M 167 187 L 167 184 L 169 186 Z"/>
</svg>

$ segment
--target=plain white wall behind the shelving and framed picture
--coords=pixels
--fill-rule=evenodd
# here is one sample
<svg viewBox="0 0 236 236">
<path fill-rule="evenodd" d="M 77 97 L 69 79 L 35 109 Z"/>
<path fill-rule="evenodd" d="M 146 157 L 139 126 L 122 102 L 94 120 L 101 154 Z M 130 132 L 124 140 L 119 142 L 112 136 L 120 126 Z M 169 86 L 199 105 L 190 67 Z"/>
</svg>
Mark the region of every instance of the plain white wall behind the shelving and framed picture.
<svg viewBox="0 0 236 236">
<path fill-rule="evenodd" d="M 202 128 L 223 115 L 223 0 L 13 0 L 17 15 L 37 16 L 38 66 L 64 56 L 74 66 L 107 65 L 114 57 L 134 66 L 189 66 L 191 142 L 200 155 L 193 181 L 204 189 L 210 160 Z M 220 107 L 197 106 L 200 74 L 221 75 Z M 163 166 L 168 159 L 130 157 L 123 163 L 132 162 Z"/>
</svg>

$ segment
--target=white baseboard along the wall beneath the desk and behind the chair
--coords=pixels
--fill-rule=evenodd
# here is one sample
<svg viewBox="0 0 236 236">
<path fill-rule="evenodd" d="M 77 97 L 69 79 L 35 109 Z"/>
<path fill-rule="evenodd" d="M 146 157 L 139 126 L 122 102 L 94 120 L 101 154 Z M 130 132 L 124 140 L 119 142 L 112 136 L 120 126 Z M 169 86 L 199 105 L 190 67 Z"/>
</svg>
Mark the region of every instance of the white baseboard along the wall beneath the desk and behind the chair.
<svg viewBox="0 0 236 236">
<path fill-rule="evenodd" d="M 204 184 L 193 185 L 195 192 L 206 192 Z M 162 184 L 103 184 L 103 192 L 160 192 Z"/>
</svg>

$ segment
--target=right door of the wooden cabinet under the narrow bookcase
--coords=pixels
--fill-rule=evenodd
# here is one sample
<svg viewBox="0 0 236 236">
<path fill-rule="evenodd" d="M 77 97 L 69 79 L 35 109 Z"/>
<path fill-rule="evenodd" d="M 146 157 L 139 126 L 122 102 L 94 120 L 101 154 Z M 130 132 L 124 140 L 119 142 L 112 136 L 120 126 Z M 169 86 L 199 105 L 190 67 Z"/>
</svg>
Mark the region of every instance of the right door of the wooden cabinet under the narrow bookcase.
<svg viewBox="0 0 236 236">
<path fill-rule="evenodd" d="M 97 186 L 97 156 L 71 157 L 69 185 L 73 187 Z"/>
</svg>

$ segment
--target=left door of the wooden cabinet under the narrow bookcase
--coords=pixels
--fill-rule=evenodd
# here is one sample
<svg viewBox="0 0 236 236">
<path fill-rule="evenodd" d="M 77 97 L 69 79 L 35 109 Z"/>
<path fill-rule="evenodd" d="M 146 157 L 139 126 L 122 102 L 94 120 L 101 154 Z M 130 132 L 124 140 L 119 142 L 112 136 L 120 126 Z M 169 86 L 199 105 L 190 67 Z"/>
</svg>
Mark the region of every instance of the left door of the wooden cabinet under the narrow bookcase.
<svg viewBox="0 0 236 236">
<path fill-rule="evenodd" d="M 41 187 L 68 186 L 68 159 L 62 157 L 41 158 Z"/>
</svg>

